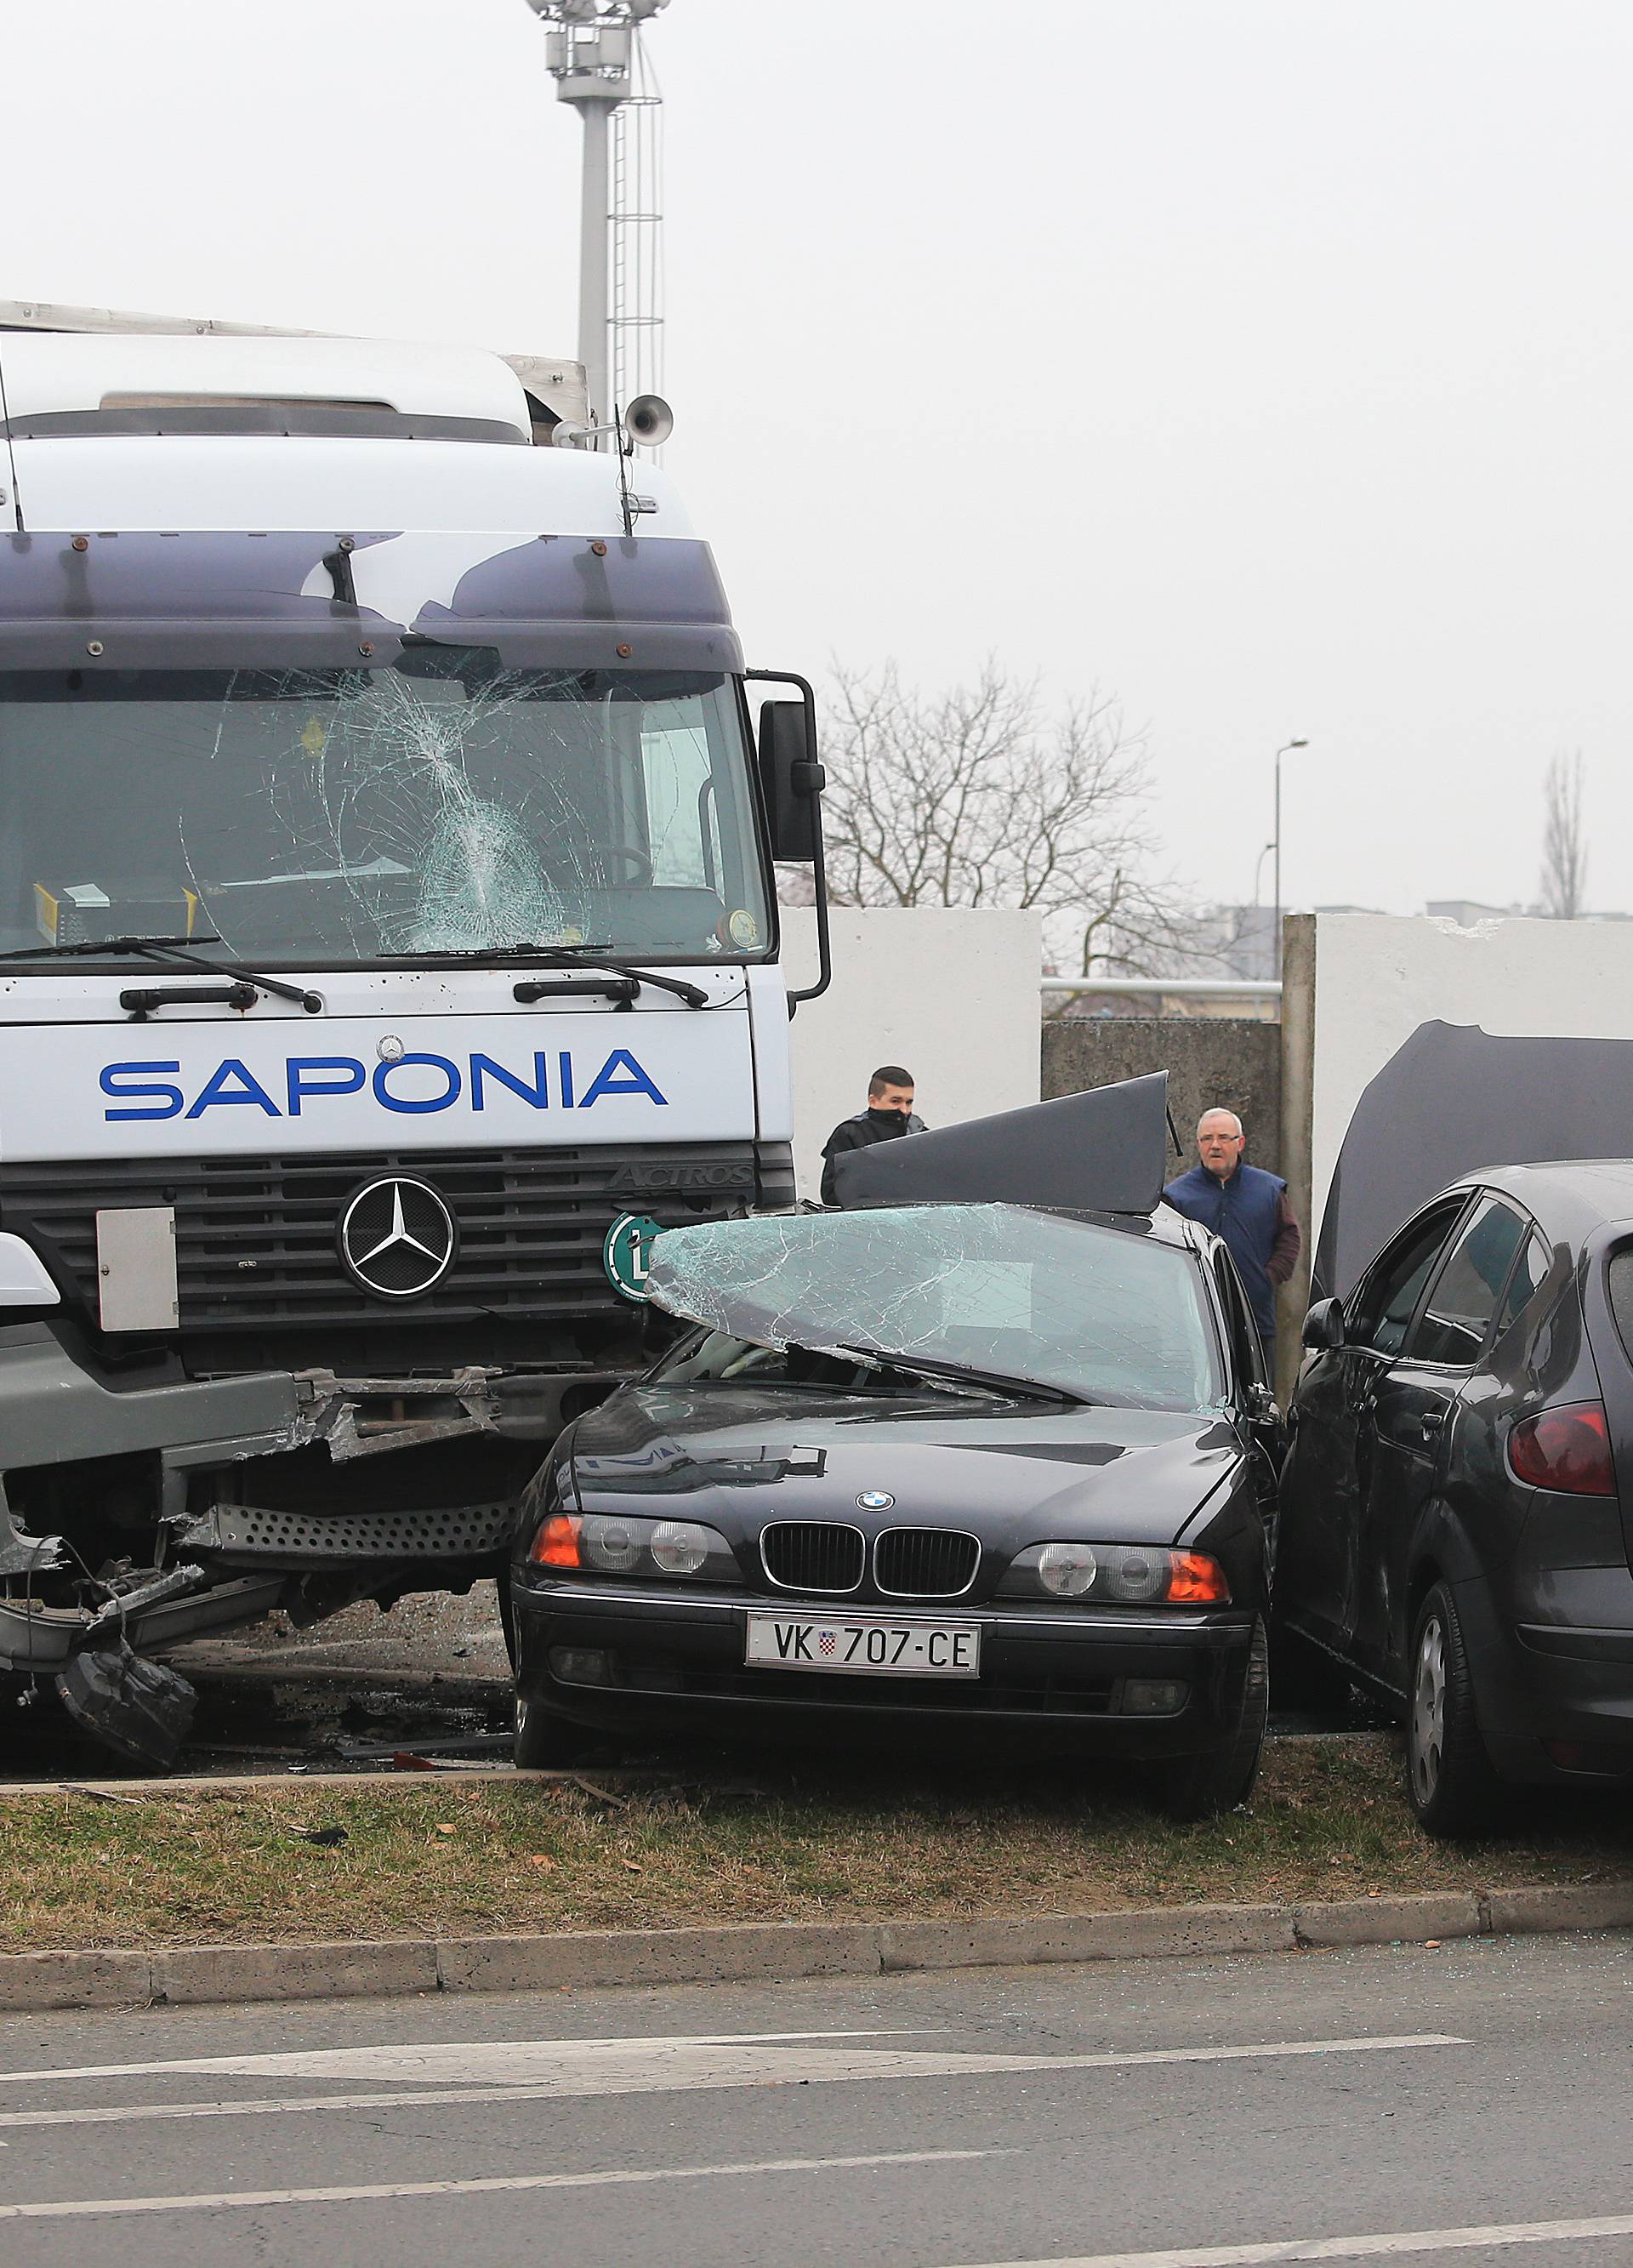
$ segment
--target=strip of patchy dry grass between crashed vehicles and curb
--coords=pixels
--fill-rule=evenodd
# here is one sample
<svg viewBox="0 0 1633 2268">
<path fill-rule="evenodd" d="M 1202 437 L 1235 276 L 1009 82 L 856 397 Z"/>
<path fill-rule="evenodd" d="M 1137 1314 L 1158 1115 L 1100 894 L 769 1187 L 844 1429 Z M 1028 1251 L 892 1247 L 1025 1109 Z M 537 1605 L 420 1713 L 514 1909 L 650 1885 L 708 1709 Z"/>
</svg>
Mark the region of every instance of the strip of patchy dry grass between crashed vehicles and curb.
<svg viewBox="0 0 1633 2268">
<path fill-rule="evenodd" d="M 1429 1842 L 1384 1735 L 1272 1742 L 1252 1805 L 1188 1828 L 1145 1810 L 1134 1780 L 1073 1767 L 737 1758 L 730 1774 L 626 1783 L 617 1801 L 572 1780 L 268 1778 L 120 1803 L 9 1796 L 0 1950 L 1095 1912 L 1628 1876 L 1633 1821 L 1604 1799 L 1549 1796 L 1499 1839 Z"/>
</svg>

